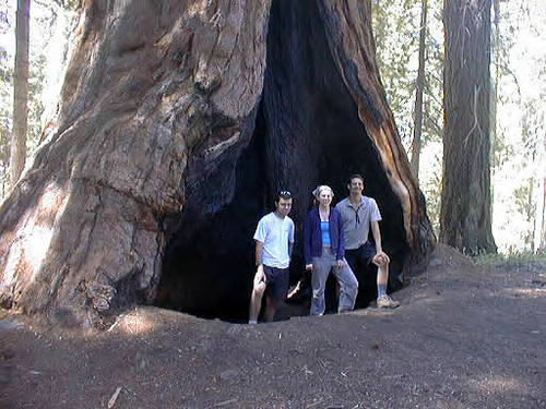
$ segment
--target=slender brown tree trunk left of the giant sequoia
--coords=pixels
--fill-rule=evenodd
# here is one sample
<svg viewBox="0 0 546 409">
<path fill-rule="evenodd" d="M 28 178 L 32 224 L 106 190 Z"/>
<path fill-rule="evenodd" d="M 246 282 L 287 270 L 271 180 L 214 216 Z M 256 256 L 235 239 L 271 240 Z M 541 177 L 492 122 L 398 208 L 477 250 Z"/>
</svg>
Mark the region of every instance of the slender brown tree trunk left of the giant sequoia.
<svg viewBox="0 0 546 409">
<path fill-rule="evenodd" d="M 15 71 L 13 76 L 13 132 L 10 155 L 10 180 L 12 187 L 17 182 L 25 168 L 28 121 L 29 17 L 31 0 L 17 0 Z"/>
</svg>

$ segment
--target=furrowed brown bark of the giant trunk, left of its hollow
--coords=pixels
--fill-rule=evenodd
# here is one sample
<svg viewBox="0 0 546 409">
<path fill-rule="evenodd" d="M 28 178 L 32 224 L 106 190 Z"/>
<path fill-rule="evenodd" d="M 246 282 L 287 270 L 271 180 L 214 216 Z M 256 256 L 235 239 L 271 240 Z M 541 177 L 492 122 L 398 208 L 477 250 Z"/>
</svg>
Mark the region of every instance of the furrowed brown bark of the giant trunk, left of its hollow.
<svg viewBox="0 0 546 409">
<path fill-rule="evenodd" d="M 58 131 L 2 206 L 7 303 L 81 322 L 154 299 L 162 224 L 183 212 L 188 175 L 200 167 L 206 183 L 251 135 L 269 7 L 84 4 Z M 217 206 L 232 196 L 232 171 L 215 180 Z"/>
</svg>

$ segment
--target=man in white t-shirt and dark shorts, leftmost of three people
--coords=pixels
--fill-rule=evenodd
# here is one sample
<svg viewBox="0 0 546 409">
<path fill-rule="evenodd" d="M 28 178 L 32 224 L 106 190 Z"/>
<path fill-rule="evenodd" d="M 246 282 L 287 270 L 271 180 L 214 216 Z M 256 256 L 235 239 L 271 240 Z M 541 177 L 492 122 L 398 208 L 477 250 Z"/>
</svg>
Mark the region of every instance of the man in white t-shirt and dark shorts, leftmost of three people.
<svg viewBox="0 0 546 409">
<path fill-rule="evenodd" d="M 263 216 L 254 232 L 257 272 L 250 297 L 249 324 L 258 323 L 262 296 L 265 293 L 264 320 L 272 321 L 278 305 L 288 294 L 294 221 L 288 217 L 292 194 L 280 191 L 275 210 Z"/>
</svg>

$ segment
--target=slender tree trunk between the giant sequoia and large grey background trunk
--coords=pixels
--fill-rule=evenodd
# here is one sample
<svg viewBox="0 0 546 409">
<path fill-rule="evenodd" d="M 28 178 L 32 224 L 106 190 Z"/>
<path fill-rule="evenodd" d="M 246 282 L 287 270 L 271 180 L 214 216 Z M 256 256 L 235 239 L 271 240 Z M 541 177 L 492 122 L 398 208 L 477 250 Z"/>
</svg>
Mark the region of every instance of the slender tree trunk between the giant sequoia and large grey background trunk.
<svg viewBox="0 0 546 409">
<path fill-rule="evenodd" d="M 415 119 L 414 135 L 412 142 L 412 169 L 415 179 L 419 180 L 419 158 L 423 134 L 423 93 L 425 88 L 425 51 L 427 36 L 427 4 L 428 0 L 422 0 L 420 31 L 419 31 L 419 68 L 415 86 Z"/>
</svg>

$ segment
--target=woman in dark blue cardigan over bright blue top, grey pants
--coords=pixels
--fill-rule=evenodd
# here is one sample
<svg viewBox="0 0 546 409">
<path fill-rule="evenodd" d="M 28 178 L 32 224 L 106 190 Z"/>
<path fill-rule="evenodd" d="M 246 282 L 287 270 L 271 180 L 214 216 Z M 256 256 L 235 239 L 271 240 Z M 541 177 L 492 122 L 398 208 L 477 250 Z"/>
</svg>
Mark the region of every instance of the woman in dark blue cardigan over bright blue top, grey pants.
<svg viewBox="0 0 546 409">
<path fill-rule="evenodd" d="M 324 314 L 324 288 L 331 272 L 334 273 L 340 284 L 337 312 L 351 311 L 355 306 L 358 281 L 344 258 L 345 245 L 341 214 L 330 206 L 334 195 L 330 187 L 320 185 L 312 193 L 319 204 L 307 215 L 304 238 L 306 269 L 312 272 L 310 314 Z"/>
</svg>

